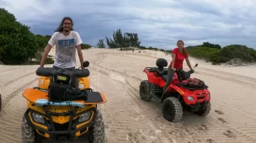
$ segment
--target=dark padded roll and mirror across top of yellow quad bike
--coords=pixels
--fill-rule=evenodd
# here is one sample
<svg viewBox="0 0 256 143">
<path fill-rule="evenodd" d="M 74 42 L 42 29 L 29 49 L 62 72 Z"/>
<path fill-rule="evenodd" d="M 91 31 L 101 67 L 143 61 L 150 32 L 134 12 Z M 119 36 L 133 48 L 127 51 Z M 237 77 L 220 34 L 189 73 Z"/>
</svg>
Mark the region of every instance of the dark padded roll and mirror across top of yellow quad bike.
<svg viewBox="0 0 256 143">
<path fill-rule="evenodd" d="M 88 67 L 89 62 L 84 61 L 83 66 Z M 90 72 L 88 71 L 88 69 L 80 69 L 80 68 L 81 67 L 79 67 L 75 71 L 69 71 L 69 70 L 65 70 L 65 69 L 56 70 L 53 67 L 39 67 L 36 70 L 36 75 L 37 76 L 43 76 L 43 77 L 53 77 L 57 73 L 68 74 L 71 77 L 88 77 L 90 75 Z"/>
</svg>

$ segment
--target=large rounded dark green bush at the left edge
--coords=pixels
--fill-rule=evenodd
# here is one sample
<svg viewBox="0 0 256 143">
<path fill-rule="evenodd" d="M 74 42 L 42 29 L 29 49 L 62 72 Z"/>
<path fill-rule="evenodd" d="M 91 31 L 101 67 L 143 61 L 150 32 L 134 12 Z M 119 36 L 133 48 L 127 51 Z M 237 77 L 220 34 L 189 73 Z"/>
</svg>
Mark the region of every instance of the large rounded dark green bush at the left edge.
<svg viewBox="0 0 256 143">
<path fill-rule="evenodd" d="M 35 35 L 4 8 L 0 8 L 0 21 L 0 61 L 4 64 L 30 61 L 38 47 Z"/>
</svg>

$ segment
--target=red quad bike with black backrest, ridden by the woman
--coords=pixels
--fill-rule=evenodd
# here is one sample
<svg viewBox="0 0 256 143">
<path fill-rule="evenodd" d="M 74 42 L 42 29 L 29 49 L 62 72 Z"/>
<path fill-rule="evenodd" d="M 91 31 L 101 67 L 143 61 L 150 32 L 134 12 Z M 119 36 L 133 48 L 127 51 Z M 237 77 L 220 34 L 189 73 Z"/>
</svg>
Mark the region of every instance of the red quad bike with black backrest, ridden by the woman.
<svg viewBox="0 0 256 143">
<path fill-rule="evenodd" d="M 168 68 L 163 68 L 163 66 L 168 66 L 168 62 L 163 58 L 159 58 L 156 64 L 158 67 L 146 67 L 143 70 L 143 72 L 146 72 L 148 80 L 142 81 L 140 85 L 140 97 L 142 100 L 150 101 L 154 98 L 163 103 L 163 118 L 173 123 L 182 119 L 184 110 L 202 117 L 210 113 L 211 93 L 204 82 L 198 87 L 189 84 L 189 80 L 196 79 L 190 78 L 190 74 L 193 72 L 177 70 L 173 74 L 173 81 L 166 91 L 163 91 L 168 78 Z M 182 73 L 184 73 L 184 76 L 182 76 Z"/>
</svg>

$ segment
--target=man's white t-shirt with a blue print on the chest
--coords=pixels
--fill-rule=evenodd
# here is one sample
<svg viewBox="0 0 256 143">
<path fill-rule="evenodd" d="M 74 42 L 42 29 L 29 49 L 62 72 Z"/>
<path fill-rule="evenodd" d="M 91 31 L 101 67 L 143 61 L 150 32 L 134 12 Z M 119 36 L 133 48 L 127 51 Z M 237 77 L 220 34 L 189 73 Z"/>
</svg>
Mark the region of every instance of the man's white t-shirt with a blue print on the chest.
<svg viewBox="0 0 256 143">
<path fill-rule="evenodd" d="M 67 36 L 55 32 L 48 43 L 51 46 L 56 45 L 54 66 L 61 68 L 76 66 L 76 46 L 83 43 L 76 31 L 71 31 Z"/>
</svg>

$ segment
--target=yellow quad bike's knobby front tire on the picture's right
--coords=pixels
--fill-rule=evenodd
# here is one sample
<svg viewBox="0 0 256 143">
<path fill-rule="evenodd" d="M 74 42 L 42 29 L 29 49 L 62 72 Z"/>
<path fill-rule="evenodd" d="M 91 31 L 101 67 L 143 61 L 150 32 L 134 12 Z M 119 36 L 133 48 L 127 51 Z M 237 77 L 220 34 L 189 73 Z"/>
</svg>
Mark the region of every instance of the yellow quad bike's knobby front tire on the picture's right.
<svg viewBox="0 0 256 143">
<path fill-rule="evenodd" d="M 88 140 L 89 143 L 104 143 L 105 131 L 104 131 L 104 119 L 99 109 L 96 109 L 97 117 L 95 119 L 93 127 L 89 128 Z"/>
</svg>

